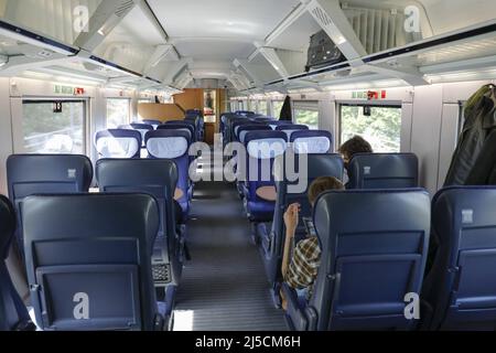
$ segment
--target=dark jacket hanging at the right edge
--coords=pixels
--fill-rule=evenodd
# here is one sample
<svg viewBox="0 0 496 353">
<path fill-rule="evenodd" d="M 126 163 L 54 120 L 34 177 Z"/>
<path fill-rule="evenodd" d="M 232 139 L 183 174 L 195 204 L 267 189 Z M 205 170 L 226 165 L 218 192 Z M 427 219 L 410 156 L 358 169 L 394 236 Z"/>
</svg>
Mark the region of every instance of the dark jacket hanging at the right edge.
<svg viewBox="0 0 496 353">
<path fill-rule="evenodd" d="M 487 92 L 467 107 L 465 124 L 453 156 L 444 186 L 465 185 L 489 133 L 496 128 L 496 87 L 484 86 Z M 476 95 L 481 93 L 477 92 Z M 475 95 L 474 95 L 475 96 Z M 471 98 L 473 100 L 473 98 Z"/>
</svg>

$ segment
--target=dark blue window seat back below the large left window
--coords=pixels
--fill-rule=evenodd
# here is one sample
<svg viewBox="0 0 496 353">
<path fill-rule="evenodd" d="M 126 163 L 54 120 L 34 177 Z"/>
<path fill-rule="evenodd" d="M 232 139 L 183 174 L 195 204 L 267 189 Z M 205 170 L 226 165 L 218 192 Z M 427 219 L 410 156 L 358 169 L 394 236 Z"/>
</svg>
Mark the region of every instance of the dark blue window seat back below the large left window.
<svg viewBox="0 0 496 353">
<path fill-rule="evenodd" d="M 17 240 L 23 249 L 22 212 L 25 197 L 34 194 L 88 192 L 93 164 L 86 156 L 14 154 L 7 160 L 9 197 L 18 214 Z"/>
</svg>

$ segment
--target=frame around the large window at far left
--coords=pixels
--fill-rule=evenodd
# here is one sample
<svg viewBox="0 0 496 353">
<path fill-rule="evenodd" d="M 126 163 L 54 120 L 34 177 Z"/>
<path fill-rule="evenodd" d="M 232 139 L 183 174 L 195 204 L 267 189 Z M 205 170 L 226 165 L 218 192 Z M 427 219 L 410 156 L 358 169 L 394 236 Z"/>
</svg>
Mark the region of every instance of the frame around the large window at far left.
<svg viewBox="0 0 496 353">
<path fill-rule="evenodd" d="M 24 130 L 22 125 L 24 124 L 24 104 L 54 104 L 54 103 L 82 103 L 83 104 L 83 152 L 82 154 L 88 156 L 89 148 L 91 146 L 90 138 L 88 131 L 90 131 L 90 111 L 91 111 L 91 100 L 89 98 L 66 98 L 66 97 L 28 97 L 25 99 L 21 99 L 21 136 L 19 137 L 22 141 L 24 141 Z M 15 138 L 15 137 L 14 137 Z M 22 142 L 23 143 L 23 142 Z M 14 142 L 14 149 L 15 149 Z M 22 151 L 25 151 L 24 146 L 22 147 Z M 30 153 L 36 154 L 36 153 Z"/>
</svg>

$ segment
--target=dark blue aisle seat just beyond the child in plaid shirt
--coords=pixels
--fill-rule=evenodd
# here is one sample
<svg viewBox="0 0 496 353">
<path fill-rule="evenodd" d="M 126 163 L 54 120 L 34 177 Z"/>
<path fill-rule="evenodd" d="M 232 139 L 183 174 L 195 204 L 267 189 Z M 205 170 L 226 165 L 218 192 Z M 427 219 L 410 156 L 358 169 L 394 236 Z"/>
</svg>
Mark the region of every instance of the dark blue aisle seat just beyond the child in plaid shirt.
<svg viewBox="0 0 496 353">
<path fill-rule="evenodd" d="M 278 159 L 274 164 L 276 173 L 280 176 L 276 180 L 277 189 L 277 202 L 272 222 L 271 233 L 267 237 L 261 238 L 261 246 L 263 248 L 266 270 L 271 284 L 276 284 L 282 280 L 281 278 L 281 261 L 285 238 L 284 228 L 284 212 L 288 206 L 293 203 L 301 205 L 299 228 L 296 229 L 296 237 L 306 235 L 306 228 L 304 227 L 304 217 L 312 216 L 312 206 L 309 202 L 308 191 L 312 182 L 320 176 L 334 176 L 338 180 L 343 180 L 344 162 L 338 154 L 306 154 L 306 179 L 303 180 L 304 174 L 300 173 L 299 180 L 290 180 L 285 174 L 284 161 Z M 296 158 L 298 165 L 298 158 Z M 282 171 L 282 172 L 280 172 Z M 294 192 L 291 190 L 291 185 L 304 182 L 306 188 L 301 192 Z"/>
</svg>

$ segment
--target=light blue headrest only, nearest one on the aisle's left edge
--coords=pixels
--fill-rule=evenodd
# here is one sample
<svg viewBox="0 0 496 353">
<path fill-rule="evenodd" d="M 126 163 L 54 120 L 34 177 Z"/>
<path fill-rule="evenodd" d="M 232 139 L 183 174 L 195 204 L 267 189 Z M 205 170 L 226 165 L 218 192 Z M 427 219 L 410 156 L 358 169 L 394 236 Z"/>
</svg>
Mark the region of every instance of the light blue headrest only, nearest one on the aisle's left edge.
<svg viewBox="0 0 496 353">
<path fill-rule="evenodd" d="M 153 158 L 176 159 L 187 156 L 191 132 L 185 130 L 157 130 L 145 136 L 148 152 Z"/>
</svg>

